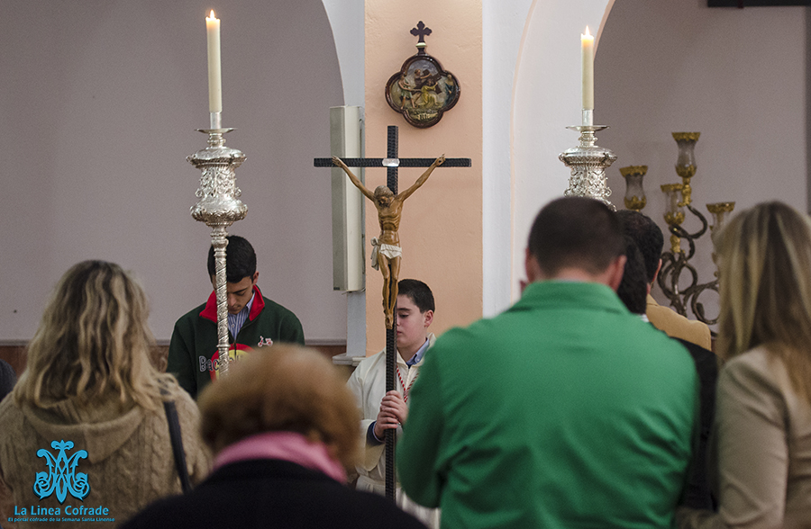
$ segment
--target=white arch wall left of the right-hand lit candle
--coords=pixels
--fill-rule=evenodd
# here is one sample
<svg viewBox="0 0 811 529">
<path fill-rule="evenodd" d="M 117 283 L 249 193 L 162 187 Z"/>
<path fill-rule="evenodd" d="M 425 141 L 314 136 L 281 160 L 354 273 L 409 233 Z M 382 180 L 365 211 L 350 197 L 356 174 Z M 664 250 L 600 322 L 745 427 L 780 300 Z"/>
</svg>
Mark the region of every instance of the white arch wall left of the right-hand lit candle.
<svg viewBox="0 0 811 529">
<path fill-rule="evenodd" d="M 580 33 L 588 25 L 594 34 L 609 4 L 609 0 L 534 0 L 529 15 L 513 100 L 514 297 L 518 280 L 525 276 L 524 248 L 534 217 L 569 186 L 569 169 L 558 155 L 578 144 L 578 133 L 566 127 L 580 123 Z M 596 115 L 601 121 L 602 115 Z"/>
</svg>

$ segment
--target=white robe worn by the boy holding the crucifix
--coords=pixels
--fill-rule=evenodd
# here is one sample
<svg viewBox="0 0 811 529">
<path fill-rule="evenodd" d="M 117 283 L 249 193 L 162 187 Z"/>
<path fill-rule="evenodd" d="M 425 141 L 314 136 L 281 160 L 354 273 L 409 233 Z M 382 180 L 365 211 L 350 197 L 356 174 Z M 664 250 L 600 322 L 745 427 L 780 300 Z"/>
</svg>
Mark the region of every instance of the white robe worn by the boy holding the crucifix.
<svg viewBox="0 0 811 529">
<path fill-rule="evenodd" d="M 428 335 L 429 348 L 436 338 L 433 333 Z M 427 354 L 427 352 L 426 352 Z M 400 376 L 403 378 L 405 388 L 410 388 L 420 372 L 420 366 L 424 363 L 425 356 L 416 365 L 409 367 L 400 354 L 397 354 L 397 367 Z M 396 389 L 403 394 L 403 387 L 399 378 L 395 374 Z M 371 425 L 378 418 L 380 401 L 386 395 L 386 351 L 380 351 L 369 358 L 360 361 L 355 372 L 352 373 L 347 382 L 350 390 L 355 395 L 360 408 L 360 433 L 361 433 L 361 458 L 360 464 L 355 467 L 358 471 L 358 484 L 356 489 L 386 494 L 386 450 L 385 444 L 366 444 L 366 433 Z M 403 433 L 402 428 L 397 428 L 397 437 Z M 400 489 L 399 483 L 396 489 L 397 505 L 406 513 L 410 513 L 419 518 L 425 525 L 432 529 L 439 529 L 440 509 L 431 509 L 415 504 Z"/>
</svg>

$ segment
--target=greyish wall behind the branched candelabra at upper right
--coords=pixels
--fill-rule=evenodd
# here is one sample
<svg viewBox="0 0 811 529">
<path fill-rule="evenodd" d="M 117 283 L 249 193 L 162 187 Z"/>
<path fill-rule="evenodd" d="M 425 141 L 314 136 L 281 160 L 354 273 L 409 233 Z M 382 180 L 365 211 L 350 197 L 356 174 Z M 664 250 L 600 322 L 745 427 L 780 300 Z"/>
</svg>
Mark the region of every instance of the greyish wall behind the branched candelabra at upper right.
<svg viewBox="0 0 811 529">
<path fill-rule="evenodd" d="M 807 18 L 805 7 L 616 0 L 597 49 L 595 103 L 597 121 L 611 126 L 599 144 L 617 155 L 608 171 L 617 207 L 619 167 L 647 165 L 642 212 L 666 232 L 660 185 L 680 182 L 670 133 L 698 131 L 691 185 L 708 218 L 708 202 L 734 201 L 740 211 L 779 200 L 806 211 Z M 694 258 L 700 282 L 714 277 L 711 252 L 707 235 Z M 665 300 L 658 287 L 654 296 Z M 715 317 L 715 294 L 702 300 Z"/>
</svg>

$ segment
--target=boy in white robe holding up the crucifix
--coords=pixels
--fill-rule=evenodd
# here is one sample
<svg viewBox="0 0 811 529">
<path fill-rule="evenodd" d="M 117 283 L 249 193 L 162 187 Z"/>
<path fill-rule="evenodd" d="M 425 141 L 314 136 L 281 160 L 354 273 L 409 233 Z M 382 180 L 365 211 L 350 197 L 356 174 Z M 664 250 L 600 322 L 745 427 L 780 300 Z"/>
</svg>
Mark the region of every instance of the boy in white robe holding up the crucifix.
<svg viewBox="0 0 811 529">
<path fill-rule="evenodd" d="M 386 392 L 386 352 L 369 356 L 360 362 L 347 385 L 358 399 L 364 445 L 356 489 L 385 494 L 386 458 L 384 444 L 386 430 L 396 429 L 408 417 L 408 391 L 419 376 L 425 351 L 433 345 L 433 333 L 428 327 L 433 322 L 433 293 L 428 285 L 415 279 L 404 279 L 397 291 L 397 390 Z M 399 485 L 397 505 L 419 518 L 432 529 L 439 529 L 439 509 L 415 504 L 405 496 Z"/>
</svg>

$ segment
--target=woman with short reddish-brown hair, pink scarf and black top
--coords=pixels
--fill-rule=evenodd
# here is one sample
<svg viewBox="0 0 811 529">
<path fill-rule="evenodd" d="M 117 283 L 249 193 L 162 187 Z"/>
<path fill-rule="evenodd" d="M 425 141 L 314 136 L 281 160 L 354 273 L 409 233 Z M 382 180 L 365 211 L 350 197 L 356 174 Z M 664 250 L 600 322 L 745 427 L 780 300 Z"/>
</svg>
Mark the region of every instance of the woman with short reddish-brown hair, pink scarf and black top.
<svg viewBox="0 0 811 529">
<path fill-rule="evenodd" d="M 322 354 L 285 344 L 249 354 L 206 388 L 199 405 L 203 437 L 216 454 L 213 473 L 124 529 L 424 527 L 386 498 L 346 485 L 360 417 Z"/>
</svg>

